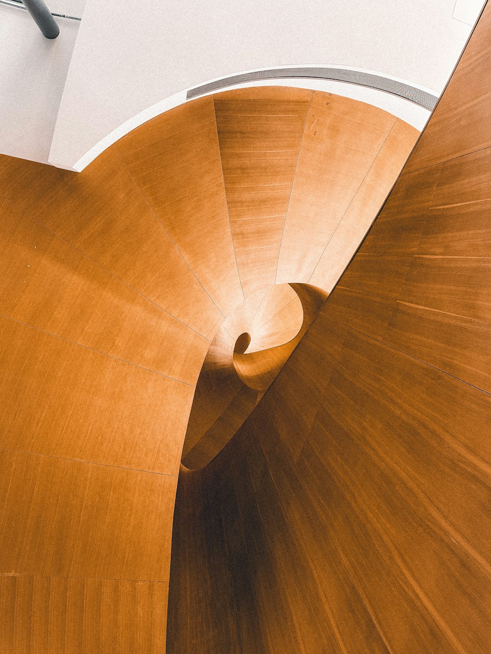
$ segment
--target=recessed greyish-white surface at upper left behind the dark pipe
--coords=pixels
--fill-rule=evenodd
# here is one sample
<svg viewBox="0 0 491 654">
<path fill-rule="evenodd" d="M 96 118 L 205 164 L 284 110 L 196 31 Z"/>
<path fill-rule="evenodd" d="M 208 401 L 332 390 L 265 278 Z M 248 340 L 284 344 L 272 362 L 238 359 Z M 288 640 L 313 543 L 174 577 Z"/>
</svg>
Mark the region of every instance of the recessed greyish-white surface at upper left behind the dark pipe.
<svg viewBox="0 0 491 654">
<path fill-rule="evenodd" d="M 57 6 L 62 5 L 62 0 L 56 1 Z M 80 11 L 81 0 L 73 8 Z M 50 9 L 58 11 L 51 3 Z M 48 162 L 56 117 L 80 26 L 75 20 L 56 20 L 60 26 L 60 36 L 50 41 L 43 37 L 27 11 L 0 5 L 2 154 Z"/>
</svg>

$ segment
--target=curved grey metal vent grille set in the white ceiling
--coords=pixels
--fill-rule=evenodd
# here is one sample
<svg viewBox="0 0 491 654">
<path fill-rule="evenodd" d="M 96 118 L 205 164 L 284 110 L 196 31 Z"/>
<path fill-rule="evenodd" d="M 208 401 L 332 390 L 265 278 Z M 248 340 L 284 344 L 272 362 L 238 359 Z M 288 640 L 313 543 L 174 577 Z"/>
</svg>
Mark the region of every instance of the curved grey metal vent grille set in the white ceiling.
<svg viewBox="0 0 491 654">
<path fill-rule="evenodd" d="M 386 91 L 393 95 L 399 95 L 411 102 L 414 102 L 420 107 L 432 111 L 437 103 L 437 95 L 432 95 L 427 91 L 422 91 L 420 88 L 391 80 L 382 75 L 373 75 L 372 73 L 364 73 L 363 71 L 353 71 L 346 68 L 276 68 L 265 71 L 254 71 L 253 73 L 242 73 L 242 75 L 233 75 L 232 77 L 225 77 L 209 84 L 196 86 L 187 92 L 187 99 L 191 100 L 193 97 L 203 95 L 216 91 L 225 86 L 233 86 L 234 84 L 242 84 L 244 82 L 255 82 L 257 80 L 267 79 L 281 79 L 287 77 L 311 78 L 311 79 L 324 79 L 336 80 L 337 82 L 348 82 L 349 84 L 359 84 L 359 86 L 369 86 L 379 91 Z"/>
</svg>

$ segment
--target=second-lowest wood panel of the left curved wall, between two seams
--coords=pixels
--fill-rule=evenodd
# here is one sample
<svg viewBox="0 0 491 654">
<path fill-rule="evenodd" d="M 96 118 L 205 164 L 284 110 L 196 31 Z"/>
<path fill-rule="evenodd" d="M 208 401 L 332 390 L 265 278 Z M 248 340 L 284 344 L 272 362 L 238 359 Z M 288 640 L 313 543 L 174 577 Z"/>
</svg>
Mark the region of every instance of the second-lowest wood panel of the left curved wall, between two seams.
<svg viewBox="0 0 491 654">
<path fill-rule="evenodd" d="M 168 583 L 177 477 L 0 450 L 0 573 Z"/>
</svg>

